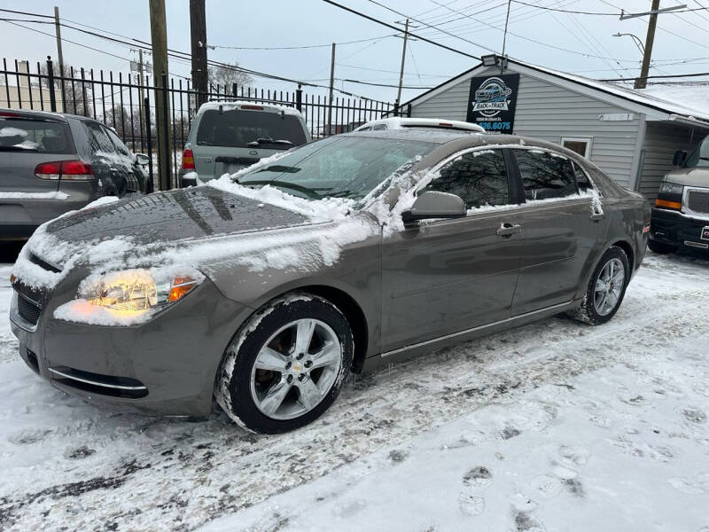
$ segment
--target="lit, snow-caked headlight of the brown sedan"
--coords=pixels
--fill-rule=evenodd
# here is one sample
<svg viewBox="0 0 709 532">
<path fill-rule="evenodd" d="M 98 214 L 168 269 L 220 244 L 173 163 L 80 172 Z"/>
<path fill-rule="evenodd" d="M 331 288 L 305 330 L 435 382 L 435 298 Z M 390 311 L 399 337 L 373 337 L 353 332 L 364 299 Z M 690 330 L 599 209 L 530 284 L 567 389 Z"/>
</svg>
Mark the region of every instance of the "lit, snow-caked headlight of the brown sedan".
<svg viewBox="0 0 709 532">
<path fill-rule="evenodd" d="M 54 317 L 92 325 L 134 325 L 180 301 L 204 276 L 195 271 L 175 275 L 160 270 L 124 270 L 93 275 L 82 281 L 74 301 Z"/>
</svg>

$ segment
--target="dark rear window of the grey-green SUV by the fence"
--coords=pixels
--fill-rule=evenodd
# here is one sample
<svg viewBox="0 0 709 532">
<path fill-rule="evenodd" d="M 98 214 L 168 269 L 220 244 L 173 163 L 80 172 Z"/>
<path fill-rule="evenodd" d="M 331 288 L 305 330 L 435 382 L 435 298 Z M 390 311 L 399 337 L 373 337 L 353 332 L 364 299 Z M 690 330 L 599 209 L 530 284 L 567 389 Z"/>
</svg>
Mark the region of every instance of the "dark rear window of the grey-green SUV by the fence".
<svg viewBox="0 0 709 532">
<path fill-rule="evenodd" d="M 292 145 L 306 142 L 305 132 L 297 116 L 268 111 L 243 111 L 239 109 L 205 111 L 197 129 L 197 144 L 205 146 L 226 146 L 230 148 L 281 148 L 288 149 L 286 143 L 269 143 L 263 140 L 286 140 Z M 249 143 L 258 143 L 256 146 Z"/>
</svg>

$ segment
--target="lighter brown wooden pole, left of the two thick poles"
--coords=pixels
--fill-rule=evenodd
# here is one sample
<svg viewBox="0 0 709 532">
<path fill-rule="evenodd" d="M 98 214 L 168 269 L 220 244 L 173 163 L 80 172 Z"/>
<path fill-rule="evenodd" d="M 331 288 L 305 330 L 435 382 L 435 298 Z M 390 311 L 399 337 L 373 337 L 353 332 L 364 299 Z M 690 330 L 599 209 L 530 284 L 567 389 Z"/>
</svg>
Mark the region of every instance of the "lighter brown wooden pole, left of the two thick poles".
<svg viewBox="0 0 709 532">
<path fill-rule="evenodd" d="M 168 98 L 168 27 L 165 21 L 165 0 L 150 2 L 150 35 L 152 66 L 155 73 L 155 127 L 158 130 L 158 176 L 160 190 L 171 188 L 170 171 L 170 106 Z M 148 132 L 150 134 L 150 132 Z"/>
</svg>

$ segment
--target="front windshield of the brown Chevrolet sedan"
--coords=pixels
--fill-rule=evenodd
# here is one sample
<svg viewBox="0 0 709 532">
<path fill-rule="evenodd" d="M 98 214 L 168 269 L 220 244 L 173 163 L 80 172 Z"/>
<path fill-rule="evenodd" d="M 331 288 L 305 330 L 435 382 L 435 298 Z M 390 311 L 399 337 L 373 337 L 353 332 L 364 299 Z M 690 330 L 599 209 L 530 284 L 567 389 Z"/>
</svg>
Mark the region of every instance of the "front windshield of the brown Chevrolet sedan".
<svg viewBox="0 0 709 532">
<path fill-rule="evenodd" d="M 362 200 L 397 168 L 435 147 L 393 138 L 328 137 L 239 176 L 238 183 L 269 184 L 303 198 Z"/>
</svg>

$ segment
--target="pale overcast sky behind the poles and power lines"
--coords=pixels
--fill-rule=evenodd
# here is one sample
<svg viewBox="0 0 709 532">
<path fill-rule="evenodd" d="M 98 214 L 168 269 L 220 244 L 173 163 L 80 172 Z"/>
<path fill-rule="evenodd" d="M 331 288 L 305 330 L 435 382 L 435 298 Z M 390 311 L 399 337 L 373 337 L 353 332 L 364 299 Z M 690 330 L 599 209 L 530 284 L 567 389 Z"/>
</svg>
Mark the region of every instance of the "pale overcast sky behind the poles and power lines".
<svg viewBox="0 0 709 532">
<path fill-rule="evenodd" d="M 631 12 L 650 9 L 650 0 L 526 0 L 539 6 L 579 12 L 619 12 L 622 5 Z M 393 23 L 404 17 L 387 11 L 370 0 L 340 0 L 355 10 Z M 479 55 L 486 48 L 500 51 L 507 9 L 506 0 L 381 0 L 381 4 L 420 20 L 413 33 L 444 43 L 452 48 Z M 686 0 L 688 8 L 709 7 L 709 0 Z M 4 0 L 4 9 L 53 14 L 59 13 L 67 24 L 81 23 L 101 30 L 150 41 L 148 0 Z M 168 47 L 190 51 L 190 14 L 188 0 L 166 0 Z M 443 4 L 441 6 L 440 4 Z M 663 0 L 661 7 L 680 4 Z M 467 16 L 466 16 L 467 15 Z M 0 12 L 0 17 L 28 19 L 26 15 Z M 477 21 L 476 21 L 477 20 Z M 641 54 L 628 36 L 613 37 L 617 32 L 632 33 L 643 42 L 647 17 L 619 20 L 617 16 L 570 15 L 524 4 L 511 3 L 506 51 L 510 57 L 528 62 L 588 75 L 608 78 L 637 75 Z M 440 25 L 451 35 L 427 27 Z M 49 24 L 15 22 L 53 35 Z M 30 59 L 35 62 L 47 55 L 55 58 L 56 43 L 52 36 L 41 35 L 7 21 L 0 21 L 0 50 L 8 60 Z M 88 28 L 87 28 L 88 29 Z M 269 2 L 206 0 L 207 43 L 217 46 L 209 50 L 209 59 L 233 62 L 242 66 L 284 77 L 327 84 L 330 75 L 330 48 L 306 50 L 236 50 L 225 47 L 277 47 L 344 43 L 381 37 L 362 43 L 337 47 L 335 77 L 366 82 L 398 82 L 401 63 L 401 38 L 393 31 L 364 20 L 352 13 L 325 4 L 321 0 L 270 0 Z M 94 70 L 129 71 L 129 59 L 136 53 L 129 46 L 110 43 L 93 35 L 62 28 L 66 65 L 93 67 Z M 523 38 L 524 37 L 524 38 Z M 465 40 L 462 40 L 465 39 Z M 97 48 L 92 51 L 74 43 Z M 536 41 L 536 42 L 534 42 Z M 537 43 L 538 42 L 538 43 Z M 113 55 L 108 55 L 108 52 Z M 119 57 L 114 57 L 119 56 Z M 601 56 L 601 57 L 592 57 Z M 121 59 L 123 58 L 123 59 Z M 602 59 L 612 58 L 612 59 Z M 653 50 L 655 67 L 651 74 L 677 74 L 709 71 L 709 10 L 659 16 L 658 33 Z M 685 61 L 680 63 L 680 61 Z M 474 59 L 442 50 L 422 41 L 409 42 L 404 83 L 430 87 L 474 66 Z M 170 74 L 189 76 L 190 65 L 170 62 Z M 709 77 L 709 76 L 707 76 Z M 264 89 L 293 90 L 292 83 L 255 78 L 254 85 Z M 396 89 L 373 87 L 352 82 L 336 82 L 340 89 L 371 98 L 393 101 Z M 316 91 L 308 89 L 308 91 Z M 403 100 L 421 92 L 404 90 Z M 316 93 L 322 93 L 317 90 Z"/>
</svg>

